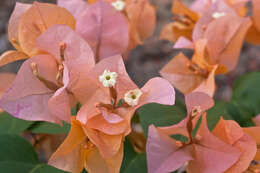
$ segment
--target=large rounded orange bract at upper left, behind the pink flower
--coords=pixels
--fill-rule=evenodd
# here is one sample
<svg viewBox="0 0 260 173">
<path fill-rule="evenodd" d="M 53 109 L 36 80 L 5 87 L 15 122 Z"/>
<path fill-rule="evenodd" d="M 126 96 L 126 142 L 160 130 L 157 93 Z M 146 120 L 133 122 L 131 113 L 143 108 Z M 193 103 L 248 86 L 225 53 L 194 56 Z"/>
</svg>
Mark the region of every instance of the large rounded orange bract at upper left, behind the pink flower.
<svg viewBox="0 0 260 173">
<path fill-rule="evenodd" d="M 75 28 L 74 17 L 64 8 L 54 4 L 34 2 L 19 22 L 19 43 L 22 50 L 30 55 L 39 53 L 36 39 L 54 24 L 64 24 Z"/>
</svg>

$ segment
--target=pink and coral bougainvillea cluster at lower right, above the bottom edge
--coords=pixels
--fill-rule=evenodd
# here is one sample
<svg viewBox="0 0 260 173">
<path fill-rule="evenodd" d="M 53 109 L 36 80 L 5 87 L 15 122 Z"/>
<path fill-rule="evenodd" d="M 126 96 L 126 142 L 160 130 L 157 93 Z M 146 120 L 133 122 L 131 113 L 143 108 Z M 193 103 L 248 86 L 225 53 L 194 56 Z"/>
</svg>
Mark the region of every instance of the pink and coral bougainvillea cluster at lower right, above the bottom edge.
<svg viewBox="0 0 260 173">
<path fill-rule="evenodd" d="M 147 141 L 148 171 L 172 172 L 187 166 L 187 172 L 243 172 L 256 154 L 256 142 L 232 120 L 220 119 L 212 132 L 207 127 L 206 110 L 213 100 L 195 92 L 185 98 L 187 117 L 169 127 L 149 127 Z M 192 134 L 198 119 L 201 124 Z M 174 139 L 181 134 L 186 141 Z"/>
</svg>

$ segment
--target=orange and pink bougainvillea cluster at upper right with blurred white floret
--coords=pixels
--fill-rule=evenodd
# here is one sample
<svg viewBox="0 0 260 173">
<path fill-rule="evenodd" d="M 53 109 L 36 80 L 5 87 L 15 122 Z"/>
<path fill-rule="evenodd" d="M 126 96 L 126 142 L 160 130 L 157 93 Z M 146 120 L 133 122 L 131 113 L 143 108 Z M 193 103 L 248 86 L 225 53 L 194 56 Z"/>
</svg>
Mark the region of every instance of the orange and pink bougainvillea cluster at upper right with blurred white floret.
<svg viewBox="0 0 260 173">
<path fill-rule="evenodd" d="M 189 26 L 189 31 L 185 28 L 185 31 L 163 31 L 163 38 L 176 41 L 174 48 L 194 50 L 194 55 L 190 61 L 179 54 L 161 70 L 161 75 L 184 94 L 202 91 L 213 96 L 214 76 L 226 74 L 235 68 L 252 22 L 248 17 L 239 16 L 222 0 L 205 7 L 206 12 L 199 18 L 196 17 L 199 14 L 192 12 L 178 0 L 174 2 L 174 13 L 190 16 L 192 27 Z"/>
</svg>

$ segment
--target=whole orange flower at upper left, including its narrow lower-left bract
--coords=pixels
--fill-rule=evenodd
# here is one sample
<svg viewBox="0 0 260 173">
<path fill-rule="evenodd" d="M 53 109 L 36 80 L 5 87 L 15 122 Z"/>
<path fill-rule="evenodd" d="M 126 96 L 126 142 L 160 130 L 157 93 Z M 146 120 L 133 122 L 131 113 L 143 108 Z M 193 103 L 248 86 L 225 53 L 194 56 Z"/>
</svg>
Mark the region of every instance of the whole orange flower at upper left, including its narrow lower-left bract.
<svg viewBox="0 0 260 173">
<path fill-rule="evenodd" d="M 75 19 L 66 9 L 53 4 L 17 3 L 8 25 L 9 40 L 17 51 L 2 54 L 0 65 L 40 54 L 36 39 L 54 24 L 64 24 L 74 29 Z"/>
</svg>

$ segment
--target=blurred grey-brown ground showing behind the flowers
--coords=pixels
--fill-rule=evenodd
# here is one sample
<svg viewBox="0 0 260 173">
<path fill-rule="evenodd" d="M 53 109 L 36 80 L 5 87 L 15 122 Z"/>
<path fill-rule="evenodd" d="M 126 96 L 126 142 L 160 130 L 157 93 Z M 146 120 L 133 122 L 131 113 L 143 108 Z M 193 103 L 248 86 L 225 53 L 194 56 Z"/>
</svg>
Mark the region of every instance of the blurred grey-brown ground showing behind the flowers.
<svg viewBox="0 0 260 173">
<path fill-rule="evenodd" d="M 16 2 L 32 3 L 34 0 L 0 0 L 0 53 L 13 49 L 8 41 L 8 19 Z M 55 0 L 38 0 L 40 2 L 56 3 Z M 162 27 L 172 20 L 172 0 L 150 0 L 157 7 L 157 28 L 152 37 L 145 40 L 144 45 L 134 49 L 126 62 L 127 71 L 131 78 L 141 87 L 152 77 L 159 76 L 158 71 L 180 51 L 172 49 L 173 43 L 159 40 Z M 192 0 L 182 0 L 190 4 Z M 184 51 L 191 57 L 192 52 Z M 0 72 L 17 72 L 22 62 L 12 63 L 0 68 Z M 260 69 L 260 47 L 244 44 L 238 66 L 228 75 L 219 75 L 216 78 L 216 99 L 228 101 L 232 95 L 232 84 L 235 79 L 248 71 Z M 0 81 L 1 82 L 1 81 Z M 179 98 L 182 97 L 178 93 Z"/>
</svg>

